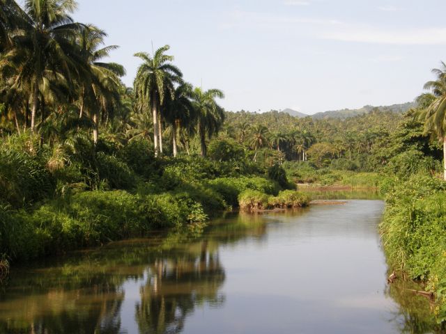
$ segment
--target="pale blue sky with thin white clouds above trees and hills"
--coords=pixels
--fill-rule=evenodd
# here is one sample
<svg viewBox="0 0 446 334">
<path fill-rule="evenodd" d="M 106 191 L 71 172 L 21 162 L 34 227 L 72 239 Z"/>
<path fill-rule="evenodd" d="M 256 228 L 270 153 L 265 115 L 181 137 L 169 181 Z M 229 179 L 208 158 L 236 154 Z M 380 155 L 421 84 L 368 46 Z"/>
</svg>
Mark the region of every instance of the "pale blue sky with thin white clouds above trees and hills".
<svg viewBox="0 0 446 334">
<path fill-rule="evenodd" d="M 78 0 L 75 19 L 133 54 L 171 46 L 185 80 L 220 88 L 227 110 L 304 113 L 387 105 L 422 93 L 446 61 L 446 1 Z"/>
</svg>

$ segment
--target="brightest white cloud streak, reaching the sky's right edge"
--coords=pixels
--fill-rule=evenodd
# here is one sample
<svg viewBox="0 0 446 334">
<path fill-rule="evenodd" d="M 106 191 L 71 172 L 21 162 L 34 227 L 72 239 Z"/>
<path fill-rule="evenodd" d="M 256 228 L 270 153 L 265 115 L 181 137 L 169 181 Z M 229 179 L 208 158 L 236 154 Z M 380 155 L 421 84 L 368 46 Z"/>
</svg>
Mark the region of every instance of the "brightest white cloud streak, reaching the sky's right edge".
<svg viewBox="0 0 446 334">
<path fill-rule="evenodd" d="M 351 26 L 349 29 L 323 33 L 321 37 L 343 42 L 391 45 L 445 45 L 446 28 L 389 31 Z"/>
</svg>

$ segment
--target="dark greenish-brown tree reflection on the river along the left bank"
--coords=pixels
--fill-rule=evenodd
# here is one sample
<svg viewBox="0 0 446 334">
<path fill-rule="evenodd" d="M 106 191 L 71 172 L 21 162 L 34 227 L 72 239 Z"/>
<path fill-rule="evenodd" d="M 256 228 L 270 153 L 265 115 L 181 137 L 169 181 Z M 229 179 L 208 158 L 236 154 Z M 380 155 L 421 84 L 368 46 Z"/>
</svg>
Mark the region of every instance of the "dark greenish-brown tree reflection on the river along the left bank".
<svg viewBox="0 0 446 334">
<path fill-rule="evenodd" d="M 217 220 L 203 237 L 121 241 L 15 268 L 0 294 L 0 333 L 180 333 L 197 305 L 224 303 L 218 248 L 261 238 L 265 224 L 252 218 Z"/>
</svg>

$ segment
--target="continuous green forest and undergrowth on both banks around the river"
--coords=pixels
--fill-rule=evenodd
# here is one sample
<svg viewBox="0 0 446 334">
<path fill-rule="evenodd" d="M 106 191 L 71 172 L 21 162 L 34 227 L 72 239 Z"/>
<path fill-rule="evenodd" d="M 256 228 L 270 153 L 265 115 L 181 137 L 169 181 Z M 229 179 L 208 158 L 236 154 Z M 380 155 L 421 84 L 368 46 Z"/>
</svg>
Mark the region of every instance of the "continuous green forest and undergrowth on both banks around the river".
<svg viewBox="0 0 446 334">
<path fill-rule="evenodd" d="M 135 50 L 126 87 L 107 61 L 118 46 L 72 19 L 75 1 L 0 2 L 0 282 L 15 263 L 303 207 L 302 185 L 341 184 L 380 191 L 390 267 L 425 282 L 446 319 L 444 63 L 403 114 L 231 112 L 222 90 L 187 82 L 169 45 Z"/>
</svg>

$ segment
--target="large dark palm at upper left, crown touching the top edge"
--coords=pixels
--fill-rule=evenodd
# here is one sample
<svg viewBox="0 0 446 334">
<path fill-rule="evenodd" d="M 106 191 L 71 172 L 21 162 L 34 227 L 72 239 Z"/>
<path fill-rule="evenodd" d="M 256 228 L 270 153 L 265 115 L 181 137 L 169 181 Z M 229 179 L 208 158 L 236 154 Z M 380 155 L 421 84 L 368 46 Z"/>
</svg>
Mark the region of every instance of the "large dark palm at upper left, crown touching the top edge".
<svg viewBox="0 0 446 334">
<path fill-rule="evenodd" d="M 69 15 L 76 7 L 74 0 L 24 2 L 26 33 L 15 35 L 14 51 L 6 58 L 20 64 L 13 89 L 26 88 L 31 95 L 31 132 L 51 81 L 70 80 L 87 72 L 79 47 L 72 42 L 80 27 Z"/>
</svg>

